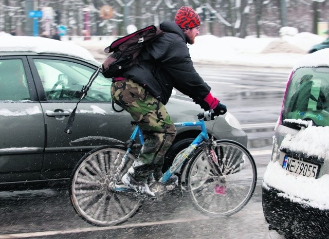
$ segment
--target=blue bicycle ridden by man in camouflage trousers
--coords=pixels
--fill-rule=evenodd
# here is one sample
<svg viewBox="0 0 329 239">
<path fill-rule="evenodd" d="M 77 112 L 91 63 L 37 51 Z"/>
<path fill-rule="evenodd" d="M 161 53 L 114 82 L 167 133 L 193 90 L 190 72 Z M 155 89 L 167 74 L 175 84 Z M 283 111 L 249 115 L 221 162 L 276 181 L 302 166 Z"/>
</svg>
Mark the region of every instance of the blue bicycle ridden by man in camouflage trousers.
<svg viewBox="0 0 329 239">
<path fill-rule="evenodd" d="M 176 186 L 187 190 L 195 208 L 206 215 L 232 215 L 248 203 L 254 192 L 255 162 L 240 143 L 209 138 L 205 121 L 214 119 L 213 111 L 198 114 L 198 119 L 175 123 L 176 127 L 199 126 L 201 132 L 188 148 L 177 154 L 158 182 L 150 175 L 149 187 L 161 198 Z M 132 217 L 143 204 L 145 198 L 120 181 L 138 155 L 138 149 L 134 148 L 136 138 L 142 145 L 138 125 L 127 142 L 113 139 L 119 145 L 90 151 L 72 172 L 71 204 L 86 222 L 95 226 L 117 225 Z M 173 175 L 178 176 L 177 181 L 173 181 Z"/>
</svg>

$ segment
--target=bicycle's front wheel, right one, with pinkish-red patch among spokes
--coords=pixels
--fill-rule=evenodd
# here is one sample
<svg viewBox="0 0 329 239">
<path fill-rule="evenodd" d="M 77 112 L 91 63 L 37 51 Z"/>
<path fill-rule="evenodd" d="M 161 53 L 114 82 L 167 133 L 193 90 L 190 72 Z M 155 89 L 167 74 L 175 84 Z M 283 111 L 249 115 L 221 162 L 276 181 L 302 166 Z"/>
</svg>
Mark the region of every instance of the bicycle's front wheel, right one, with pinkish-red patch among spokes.
<svg viewBox="0 0 329 239">
<path fill-rule="evenodd" d="M 210 216 L 228 216 L 250 200 L 257 182 L 255 162 L 240 143 L 218 140 L 216 159 L 203 148 L 189 163 L 187 189 L 196 209 Z"/>
</svg>

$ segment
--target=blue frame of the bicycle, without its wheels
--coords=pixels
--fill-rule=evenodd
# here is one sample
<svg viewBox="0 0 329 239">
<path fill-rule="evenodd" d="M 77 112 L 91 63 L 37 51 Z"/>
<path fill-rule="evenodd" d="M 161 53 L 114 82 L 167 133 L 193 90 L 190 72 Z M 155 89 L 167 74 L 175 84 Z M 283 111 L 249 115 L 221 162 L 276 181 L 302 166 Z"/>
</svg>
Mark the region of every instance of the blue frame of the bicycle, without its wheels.
<svg viewBox="0 0 329 239">
<path fill-rule="evenodd" d="M 198 122 L 177 122 L 174 123 L 176 127 L 186 127 L 186 126 L 200 126 L 201 127 L 201 132 L 200 134 L 193 140 L 193 142 L 188 146 L 188 148 L 186 148 L 186 150 L 178 155 L 175 158 L 175 161 L 173 162 L 172 166 L 165 172 L 165 174 L 162 175 L 162 177 L 160 178 L 160 182 L 162 182 L 163 184 L 165 184 L 169 178 L 176 172 L 176 170 L 182 165 L 182 163 L 184 163 L 184 161 L 186 159 L 189 159 L 190 155 L 192 155 L 194 153 L 194 151 L 197 149 L 197 147 L 199 146 L 200 143 L 204 142 L 204 141 L 208 141 L 209 140 L 209 136 L 207 133 L 207 128 L 206 128 L 206 124 L 205 124 L 205 120 L 204 119 L 199 119 Z M 140 144 L 143 145 L 144 143 L 144 139 L 143 139 L 143 134 L 142 131 L 140 129 L 140 127 L 138 125 L 136 125 L 129 141 L 127 142 L 127 151 L 125 153 L 125 155 L 122 158 L 122 162 L 120 164 L 120 166 L 118 167 L 118 170 L 121 171 L 122 166 L 125 164 L 126 160 L 127 160 L 127 156 L 129 155 L 129 152 L 131 151 L 131 147 L 135 142 L 136 137 L 139 137 L 140 140 Z M 119 172 L 117 173 L 117 175 L 119 174 Z M 121 188 L 121 187 L 115 187 L 114 189 L 115 191 L 131 191 L 130 189 L 126 189 L 126 188 Z"/>
</svg>

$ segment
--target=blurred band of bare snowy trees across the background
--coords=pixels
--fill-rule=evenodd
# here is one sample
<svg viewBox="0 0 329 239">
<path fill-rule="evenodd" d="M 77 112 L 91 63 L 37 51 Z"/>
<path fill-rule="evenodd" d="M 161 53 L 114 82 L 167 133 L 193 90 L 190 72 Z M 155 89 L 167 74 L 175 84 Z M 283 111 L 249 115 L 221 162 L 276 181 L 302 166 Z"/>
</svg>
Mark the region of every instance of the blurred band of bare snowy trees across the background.
<svg viewBox="0 0 329 239">
<path fill-rule="evenodd" d="M 64 25 L 69 35 L 82 34 L 86 24 L 91 34 L 123 35 L 128 25 L 139 29 L 174 20 L 181 6 L 190 6 L 199 13 L 202 34 L 240 38 L 276 36 L 282 26 L 318 33 L 318 23 L 327 22 L 329 13 L 326 0 L 1 0 L 0 30 L 31 34 L 31 27 L 25 27 L 31 26 L 27 13 L 33 10 L 30 5 L 27 7 L 31 3 L 36 6 L 34 10 L 52 7 L 58 16 L 53 26 Z M 113 9 L 113 17 L 109 19 L 100 17 L 100 8 L 105 5 Z M 39 19 L 40 28 L 43 21 Z"/>
</svg>

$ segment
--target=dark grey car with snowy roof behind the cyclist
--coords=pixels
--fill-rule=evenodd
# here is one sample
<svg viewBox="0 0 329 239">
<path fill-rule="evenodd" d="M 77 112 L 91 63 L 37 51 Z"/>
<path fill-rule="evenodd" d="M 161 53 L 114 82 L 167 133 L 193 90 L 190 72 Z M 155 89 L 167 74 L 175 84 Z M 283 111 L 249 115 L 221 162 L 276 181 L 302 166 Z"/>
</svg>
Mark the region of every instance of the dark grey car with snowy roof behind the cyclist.
<svg viewBox="0 0 329 239">
<path fill-rule="evenodd" d="M 113 110 L 112 82 L 101 73 L 78 105 L 72 134 L 64 133 L 82 87 L 101 64 L 86 49 L 33 36 L 0 38 L 0 188 L 66 183 L 86 152 L 109 144 L 106 137 L 129 139 L 132 118 Z M 176 122 L 197 121 L 202 112 L 178 96 L 171 97 L 166 108 Z M 215 139 L 247 146 L 246 133 L 230 113 L 206 125 Z M 197 134 L 195 127 L 177 128 L 166 167 Z M 82 140 L 86 137 L 89 140 Z"/>
</svg>

